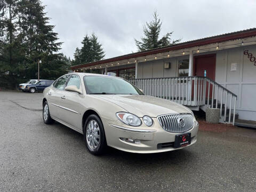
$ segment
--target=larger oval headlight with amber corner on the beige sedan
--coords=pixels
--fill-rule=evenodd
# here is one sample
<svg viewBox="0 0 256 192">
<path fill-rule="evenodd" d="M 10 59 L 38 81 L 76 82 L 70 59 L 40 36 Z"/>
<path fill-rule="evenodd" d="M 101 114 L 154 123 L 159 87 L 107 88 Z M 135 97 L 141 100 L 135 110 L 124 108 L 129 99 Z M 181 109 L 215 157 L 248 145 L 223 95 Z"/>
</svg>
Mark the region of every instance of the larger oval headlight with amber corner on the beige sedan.
<svg viewBox="0 0 256 192">
<path fill-rule="evenodd" d="M 123 122 L 126 125 L 131 125 L 131 126 L 141 125 L 140 118 L 137 117 L 136 115 L 125 113 L 125 112 L 118 112 L 116 113 L 116 116 L 121 122 Z"/>
</svg>

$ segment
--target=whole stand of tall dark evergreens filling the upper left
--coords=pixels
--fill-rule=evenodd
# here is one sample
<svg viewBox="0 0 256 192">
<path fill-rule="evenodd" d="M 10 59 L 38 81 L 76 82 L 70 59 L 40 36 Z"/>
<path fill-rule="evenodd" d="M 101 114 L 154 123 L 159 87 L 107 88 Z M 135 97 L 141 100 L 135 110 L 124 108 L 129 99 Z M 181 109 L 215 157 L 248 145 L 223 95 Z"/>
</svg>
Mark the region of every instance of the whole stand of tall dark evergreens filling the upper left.
<svg viewBox="0 0 256 192">
<path fill-rule="evenodd" d="M 15 87 L 29 78 L 55 79 L 67 73 L 70 61 L 49 25 L 40 0 L 0 0 L 0 81 Z M 3 86 L 0 84 L 0 86 Z"/>
</svg>

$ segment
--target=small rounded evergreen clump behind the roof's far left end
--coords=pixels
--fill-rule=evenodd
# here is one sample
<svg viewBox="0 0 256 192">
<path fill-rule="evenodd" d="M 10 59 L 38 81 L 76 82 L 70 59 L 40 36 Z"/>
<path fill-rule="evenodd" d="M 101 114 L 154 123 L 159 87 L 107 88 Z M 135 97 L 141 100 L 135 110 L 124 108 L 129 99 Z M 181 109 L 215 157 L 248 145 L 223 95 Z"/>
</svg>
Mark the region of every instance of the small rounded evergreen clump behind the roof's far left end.
<svg viewBox="0 0 256 192">
<path fill-rule="evenodd" d="M 98 37 L 95 34 L 86 35 L 82 41 L 82 47 L 76 48 L 72 65 L 80 65 L 93 61 L 99 61 L 105 57 L 102 45 L 98 42 Z"/>
</svg>

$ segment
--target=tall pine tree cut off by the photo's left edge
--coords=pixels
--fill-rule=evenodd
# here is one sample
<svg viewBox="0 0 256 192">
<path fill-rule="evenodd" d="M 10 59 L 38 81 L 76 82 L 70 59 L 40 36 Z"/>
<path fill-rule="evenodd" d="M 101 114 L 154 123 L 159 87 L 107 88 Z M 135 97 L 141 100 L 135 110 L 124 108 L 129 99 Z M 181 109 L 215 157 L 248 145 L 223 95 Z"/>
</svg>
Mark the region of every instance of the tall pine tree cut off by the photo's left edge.
<svg viewBox="0 0 256 192">
<path fill-rule="evenodd" d="M 11 87 L 20 76 L 25 57 L 22 39 L 18 35 L 19 3 L 20 0 L 0 1 L 0 73 L 5 73 L 0 81 Z"/>
</svg>

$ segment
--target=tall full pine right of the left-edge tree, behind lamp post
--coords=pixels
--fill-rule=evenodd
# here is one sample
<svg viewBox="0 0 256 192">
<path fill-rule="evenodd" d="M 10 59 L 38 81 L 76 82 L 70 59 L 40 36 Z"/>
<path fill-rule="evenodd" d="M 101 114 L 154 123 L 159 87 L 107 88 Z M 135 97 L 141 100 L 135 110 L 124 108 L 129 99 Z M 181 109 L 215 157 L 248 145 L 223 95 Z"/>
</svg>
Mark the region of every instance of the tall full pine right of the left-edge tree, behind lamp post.
<svg viewBox="0 0 256 192">
<path fill-rule="evenodd" d="M 42 60 L 43 69 L 46 67 L 47 57 L 57 60 L 59 58 L 56 52 L 60 50 L 62 43 L 57 42 L 58 34 L 53 32 L 54 26 L 49 25 L 50 18 L 46 17 L 44 9 L 45 6 L 40 0 L 22 0 L 19 7 L 20 35 L 25 39 L 23 45 L 26 47 L 26 68 L 30 71 L 29 76 L 36 75 L 35 66 L 38 60 Z M 55 66 L 49 67 L 54 70 Z"/>
</svg>

